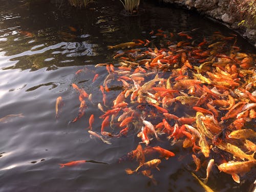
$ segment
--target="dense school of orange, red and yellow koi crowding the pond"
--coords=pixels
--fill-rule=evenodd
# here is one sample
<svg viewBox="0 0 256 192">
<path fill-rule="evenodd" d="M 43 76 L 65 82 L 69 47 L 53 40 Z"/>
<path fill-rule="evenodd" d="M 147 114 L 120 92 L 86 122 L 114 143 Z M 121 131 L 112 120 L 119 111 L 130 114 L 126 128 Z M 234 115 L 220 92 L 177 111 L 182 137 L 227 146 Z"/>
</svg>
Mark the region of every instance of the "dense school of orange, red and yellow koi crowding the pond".
<svg viewBox="0 0 256 192">
<path fill-rule="evenodd" d="M 171 161 L 178 155 L 171 149 L 179 142 L 191 149 L 189 158 L 195 163 L 191 172 L 205 168 L 204 182 L 193 173 L 205 189 L 213 167 L 240 183 L 240 177 L 256 167 L 256 55 L 240 52 L 235 34 L 214 32 L 201 40 L 191 34 L 159 29 L 150 32 L 155 36 L 151 41 L 133 39 L 108 46 L 114 61 L 95 66 L 107 71 L 98 92 L 102 96 L 98 103 L 102 115 L 97 119 L 101 127 L 94 127 L 95 114 L 86 113 L 92 93 L 75 83 L 72 87 L 79 94 L 80 106 L 70 123 L 88 116 L 88 133 L 106 144 L 138 137 L 137 148 L 119 162 L 138 162 L 137 168 L 125 172 L 142 174 L 154 184 L 153 168 L 160 170 L 162 159 Z M 110 99 L 113 94 L 115 99 Z M 58 119 L 63 100 L 56 100 Z M 162 142 L 170 147 L 161 147 Z"/>
</svg>

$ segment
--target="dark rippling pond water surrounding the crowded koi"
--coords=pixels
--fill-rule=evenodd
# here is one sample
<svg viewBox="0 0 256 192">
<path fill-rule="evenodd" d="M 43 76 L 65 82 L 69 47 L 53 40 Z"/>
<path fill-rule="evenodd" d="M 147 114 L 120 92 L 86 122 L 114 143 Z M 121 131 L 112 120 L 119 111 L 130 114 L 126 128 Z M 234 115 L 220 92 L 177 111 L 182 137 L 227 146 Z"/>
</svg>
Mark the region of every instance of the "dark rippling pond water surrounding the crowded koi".
<svg viewBox="0 0 256 192">
<path fill-rule="evenodd" d="M 105 68 L 94 66 L 114 61 L 113 51 L 106 46 L 134 38 L 151 39 L 151 30 L 178 33 L 198 28 L 198 39 L 215 31 L 226 35 L 234 32 L 195 13 L 155 7 L 151 2 L 144 2 L 141 14 L 133 17 L 120 14 L 123 7 L 119 1 L 97 2 L 89 9 L 77 10 L 65 4 L 1 1 L 0 118 L 23 116 L 0 124 L 0 191 L 204 191 L 189 173 L 189 166 L 194 166 L 191 152 L 181 145 L 171 148 L 179 153 L 171 160 L 162 160 L 160 172 L 153 170 L 158 182 L 154 186 L 142 175 L 126 175 L 124 169 L 135 168 L 136 162 L 118 163 L 121 156 L 136 148 L 140 141 L 136 134 L 113 139 L 112 145 L 89 137 L 86 127 L 90 115 L 102 114 L 97 108 L 102 99 L 99 85 L 107 74 Z M 255 53 L 240 36 L 238 46 Z M 75 75 L 84 66 L 86 72 Z M 92 83 L 96 73 L 99 78 Z M 88 104 L 85 116 L 69 124 L 80 104 L 72 83 L 92 93 L 93 103 Z M 113 99 L 119 92 L 112 91 Z M 56 122 L 58 96 L 65 105 Z M 95 129 L 100 126 L 101 121 L 96 120 Z M 74 160 L 108 165 L 59 168 L 58 163 Z M 253 182 L 237 184 L 230 175 L 218 172 L 214 167 L 207 183 L 216 191 L 248 191 Z M 205 177 L 205 169 L 197 175 Z"/>
</svg>

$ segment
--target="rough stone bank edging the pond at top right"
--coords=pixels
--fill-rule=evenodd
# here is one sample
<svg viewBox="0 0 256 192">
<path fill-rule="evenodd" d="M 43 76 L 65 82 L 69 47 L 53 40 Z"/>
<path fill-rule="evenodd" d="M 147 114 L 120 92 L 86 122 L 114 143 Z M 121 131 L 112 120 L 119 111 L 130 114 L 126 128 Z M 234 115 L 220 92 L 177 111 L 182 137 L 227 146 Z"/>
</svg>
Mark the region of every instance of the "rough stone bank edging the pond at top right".
<svg viewBox="0 0 256 192">
<path fill-rule="evenodd" d="M 255 24 L 238 26 L 239 16 L 230 11 L 230 0 L 162 0 L 164 3 L 174 4 L 186 9 L 197 10 L 198 12 L 221 22 L 225 26 L 236 30 L 256 47 Z"/>
</svg>

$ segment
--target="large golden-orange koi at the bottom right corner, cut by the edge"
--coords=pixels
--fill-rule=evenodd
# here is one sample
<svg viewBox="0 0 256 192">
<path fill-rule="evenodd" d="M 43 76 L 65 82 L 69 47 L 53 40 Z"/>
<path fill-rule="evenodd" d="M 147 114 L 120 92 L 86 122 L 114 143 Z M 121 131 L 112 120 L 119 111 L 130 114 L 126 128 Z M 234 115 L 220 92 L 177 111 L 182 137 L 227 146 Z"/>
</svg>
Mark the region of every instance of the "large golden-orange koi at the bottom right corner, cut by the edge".
<svg viewBox="0 0 256 192">
<path fill-rule="evenodd" d="M 250 171 L 252 167 L 256 165 L 256 160 L 249 161 L 230 161 L 222 163 L 218 166 L 221 172 L 230 174 L 234 181 L 240 183 L 240 177 L 238 174 L 245 174 Z"/>
</svg>

